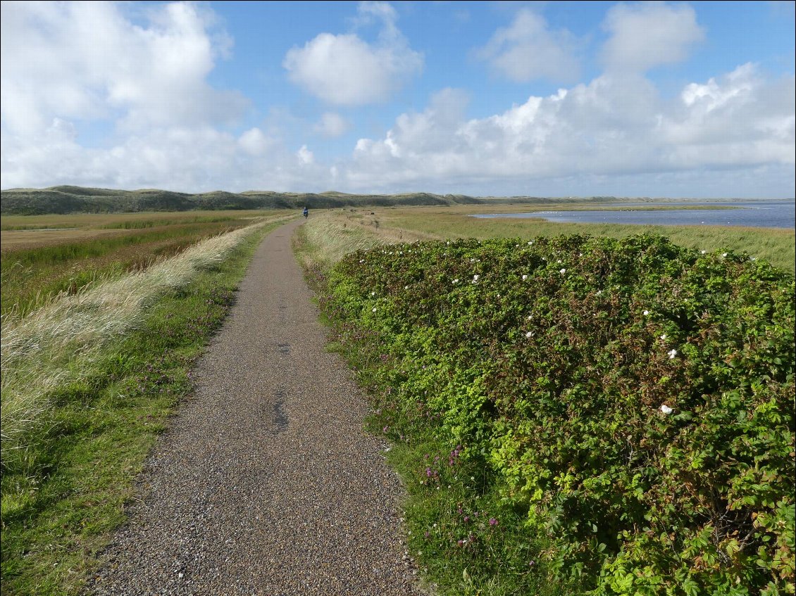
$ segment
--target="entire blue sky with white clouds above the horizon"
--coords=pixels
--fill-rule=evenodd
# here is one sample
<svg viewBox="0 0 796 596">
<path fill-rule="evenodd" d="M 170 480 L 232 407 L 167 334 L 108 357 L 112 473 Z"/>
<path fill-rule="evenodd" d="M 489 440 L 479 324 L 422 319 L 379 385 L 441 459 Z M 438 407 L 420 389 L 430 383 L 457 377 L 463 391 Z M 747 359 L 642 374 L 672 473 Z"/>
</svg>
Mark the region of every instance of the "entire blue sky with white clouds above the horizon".
<svg viewBox="0 0 796 596">
<path fill-rule="evenodd" d="M 794 2 L 2 2 L 0 188 L 792 199 Z"/>
</svg>

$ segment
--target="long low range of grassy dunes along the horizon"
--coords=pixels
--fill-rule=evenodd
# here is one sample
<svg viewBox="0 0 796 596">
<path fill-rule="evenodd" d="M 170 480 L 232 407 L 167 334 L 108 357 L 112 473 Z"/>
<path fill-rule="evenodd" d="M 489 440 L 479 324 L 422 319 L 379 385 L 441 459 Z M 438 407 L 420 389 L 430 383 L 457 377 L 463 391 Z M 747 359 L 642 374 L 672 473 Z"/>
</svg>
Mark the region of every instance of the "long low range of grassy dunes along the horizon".
<svg viewBox="0 0 796 596">
<path fill-rule="evenodd" d="M 593 197 L 606 201 L 614 197 Z M 13 188 L 0 192 L 3 215 L 45 215 L 50 213 L 117 213 L 135 211 L 220 211 L 244 209 L 314 209 L 333 207 L 391 207 L 411 205 L 456 205 L 480 203 L 557 203 L 562 199 L 541 197 L 472 197 L 433 195 L 412 192 L 401 195 L 352 195 L 345 192 L 185 192 L 142 189 L 120 191 L 107 188 L 53 186 L 50 188 Z M 590 200 L 590 199 L 579 199 Z"/>
</svg>

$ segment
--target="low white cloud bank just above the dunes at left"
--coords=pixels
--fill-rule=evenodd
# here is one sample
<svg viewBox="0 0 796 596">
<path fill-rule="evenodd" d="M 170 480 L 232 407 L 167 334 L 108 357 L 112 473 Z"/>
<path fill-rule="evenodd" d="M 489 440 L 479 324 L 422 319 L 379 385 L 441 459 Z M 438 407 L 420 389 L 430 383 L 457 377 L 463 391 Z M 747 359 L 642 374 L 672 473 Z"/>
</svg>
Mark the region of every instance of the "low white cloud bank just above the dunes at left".
<svg viewBox="0 0 796 596">
<path fill-rule="evenodd" d="M 20 143 L 2 138 L 2 188 L 75 184 L 100 188 L 290 191 L 328 188 L 328 167 L 303 146 L 287 149 L 251 129 L 240 137 L 213 126 L 150 128 L 109 148 L 81 146 L 69 126 L 50 126 Z"/>
</svg>

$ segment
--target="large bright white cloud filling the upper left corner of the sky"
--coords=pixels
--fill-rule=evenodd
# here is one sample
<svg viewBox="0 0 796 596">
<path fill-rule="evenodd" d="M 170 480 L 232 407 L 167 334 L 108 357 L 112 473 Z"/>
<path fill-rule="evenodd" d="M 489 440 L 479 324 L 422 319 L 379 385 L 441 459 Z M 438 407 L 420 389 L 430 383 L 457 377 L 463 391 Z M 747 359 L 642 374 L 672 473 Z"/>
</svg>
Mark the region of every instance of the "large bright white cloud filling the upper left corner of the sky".
<svg viewBox="0 0 796 596">
<path fill-rule="evenodd" d="M 152 8 L 148 26 L 106 2 L 2 4 L 2 122 L 41 130 L 52 118 L 120 119 L 131 130 L 230 122 L 248 106 L 205 77 L 226 51 L 190 4 Z"/>
</svg>

